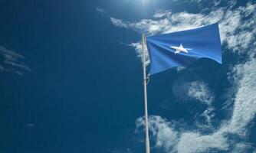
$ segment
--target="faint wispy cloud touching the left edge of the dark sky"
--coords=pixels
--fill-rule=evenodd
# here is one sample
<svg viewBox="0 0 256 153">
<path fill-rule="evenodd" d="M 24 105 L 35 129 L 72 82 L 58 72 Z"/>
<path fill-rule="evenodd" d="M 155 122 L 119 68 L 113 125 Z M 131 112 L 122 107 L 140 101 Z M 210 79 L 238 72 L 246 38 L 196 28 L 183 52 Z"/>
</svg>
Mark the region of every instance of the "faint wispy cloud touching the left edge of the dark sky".
<svg viewBox="0 0 256 153">
<path fill-rule="evenodd" d="M 16 73 L 22 75 L 25 71 L 30 72 L 28 66 L 24 63 L 25 57 L 0 46 L 0 71 Z"/>
</svg>

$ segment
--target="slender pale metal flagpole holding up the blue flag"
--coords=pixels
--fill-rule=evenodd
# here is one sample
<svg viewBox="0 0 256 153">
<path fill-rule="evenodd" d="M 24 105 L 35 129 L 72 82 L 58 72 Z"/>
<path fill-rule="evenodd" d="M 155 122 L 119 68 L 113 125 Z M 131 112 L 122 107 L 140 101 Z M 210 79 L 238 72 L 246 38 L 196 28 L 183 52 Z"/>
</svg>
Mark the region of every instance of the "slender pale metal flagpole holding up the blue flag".
<svg viewBox="0 0 256 153">
<path fill-rule="evenodd" d="M 147 94 L 146 94 L 146 57 L 145 57 L 145 44 L 146 37 L 143 34 L 143 86 L 144 86 L 144 109 L 145 109 L 145 145 L 146 153 L 150 153 L 149 147 L 149 123 L 148 123 L 148 106 L 147 106 Z"/>
</svg>

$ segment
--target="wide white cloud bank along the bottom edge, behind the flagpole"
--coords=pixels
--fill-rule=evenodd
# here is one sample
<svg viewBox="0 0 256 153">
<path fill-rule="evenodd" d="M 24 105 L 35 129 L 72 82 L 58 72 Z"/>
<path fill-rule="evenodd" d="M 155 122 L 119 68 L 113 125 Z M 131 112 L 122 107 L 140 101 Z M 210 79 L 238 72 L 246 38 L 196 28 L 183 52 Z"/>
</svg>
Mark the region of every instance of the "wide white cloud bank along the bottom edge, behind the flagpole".
<svg viewBox="0 0 256 153">
<path fill-rule="evenodd" d="M 143 118 L 136 120 L 136 130 L 144 125 Z M 239 142 L 230 135 L 227 125 L 211 134 L 202 134 L 199 129 L 190 131 L 181 123 L 169 122 L 160 116 L 149 116 L 149 130 L 153 134 L 155 145 L 152 149 L 161 149 L 167 153 L 198 153 L 216 149 L 221 151 L 242 153 L 250 152 L 253 145 Z"/>
</svg>

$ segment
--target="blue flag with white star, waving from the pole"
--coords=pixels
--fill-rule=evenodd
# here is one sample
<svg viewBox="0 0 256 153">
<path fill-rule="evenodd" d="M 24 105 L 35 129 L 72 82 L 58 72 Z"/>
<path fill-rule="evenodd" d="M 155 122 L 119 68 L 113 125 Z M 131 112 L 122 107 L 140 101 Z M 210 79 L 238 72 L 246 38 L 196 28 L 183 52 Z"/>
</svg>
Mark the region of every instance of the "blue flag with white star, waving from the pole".
<svg viewBox="0 0 256 153">
<path fill-rule="evenodd" d="M 222 63 L 218 23 L 188 31 L 146 37 L 149 50 L 149 75 L 172 67 L 186 67 L 206 57 Z"/>
</svg>

